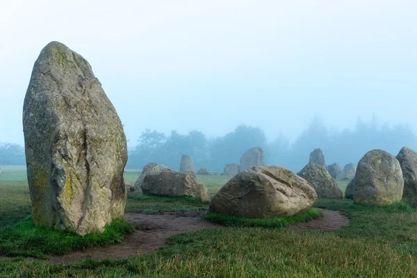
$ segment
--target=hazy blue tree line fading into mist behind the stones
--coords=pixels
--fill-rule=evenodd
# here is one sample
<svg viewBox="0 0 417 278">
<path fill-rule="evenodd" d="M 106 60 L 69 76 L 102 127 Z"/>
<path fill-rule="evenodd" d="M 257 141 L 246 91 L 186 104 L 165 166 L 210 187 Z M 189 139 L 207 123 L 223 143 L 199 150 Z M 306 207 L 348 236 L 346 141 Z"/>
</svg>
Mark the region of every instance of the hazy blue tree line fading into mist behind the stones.
<svg viewBox="0 0 417 278">
<path fill-rule="evenodd" d="M 284 133 L 268 142 L 261 129 L 246 125 L 213 139 L 200 131 L 181 135 L 175 130 L 164 134 L 147 129 L 140 135 L 136 150 L 129 153 L 127 167 L 142 168 L 156 162 L 178 170 L 181 156 L 189 154 L 197 169 L 208 167 L 213 172 L 222 172 L 227 163 L 239 163 L 247 149 L 261 147 L 265 151 L 265 164 L 283 165 L 298 172 L 316 148 L 323 149 L 328 164 L 338 162 L 343 167 L 347 163 L 357 164 L 371 149 L 384 149 L 396 155 L 404 146 L 417 147 L 417 137 L 411 128 L 403 124 L 379 124 L 375 117 L 370 122 L 358 119 L 353 129 L 343 131 L 329 129 L 320 117 L 313 117 L 294 142 Z"/>
</svg>

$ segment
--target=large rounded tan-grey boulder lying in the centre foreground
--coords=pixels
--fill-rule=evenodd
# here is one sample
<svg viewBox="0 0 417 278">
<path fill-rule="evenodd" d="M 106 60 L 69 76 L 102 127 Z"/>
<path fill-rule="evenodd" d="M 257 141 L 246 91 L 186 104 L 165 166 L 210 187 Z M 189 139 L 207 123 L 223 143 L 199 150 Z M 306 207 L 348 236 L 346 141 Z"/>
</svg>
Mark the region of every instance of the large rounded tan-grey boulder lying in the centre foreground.
<svg viewBox="0 0 417 278">
<path fill-rule="evenodd" d="M 301 177 L 275 165 L 240 172 L 213 197 L 209 211 L 247 218 L 288 216 L 308 210 L 317 199 Z"/>
</svg>

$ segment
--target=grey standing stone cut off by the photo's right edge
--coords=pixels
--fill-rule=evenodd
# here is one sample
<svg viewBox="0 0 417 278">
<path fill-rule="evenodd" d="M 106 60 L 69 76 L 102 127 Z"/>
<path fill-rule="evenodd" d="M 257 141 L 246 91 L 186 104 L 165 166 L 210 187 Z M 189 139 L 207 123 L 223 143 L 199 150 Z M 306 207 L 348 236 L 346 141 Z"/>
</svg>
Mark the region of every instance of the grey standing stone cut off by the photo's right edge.
<svg viewBox="0 0 417 278">
<path fill-rule="evenodd" d="M 404 179 L 404 192 L 402 201 L 410 206 L 417 207 L 417 153 L 412 149 L 403 147 L 397 156 Z"/>
</svg>

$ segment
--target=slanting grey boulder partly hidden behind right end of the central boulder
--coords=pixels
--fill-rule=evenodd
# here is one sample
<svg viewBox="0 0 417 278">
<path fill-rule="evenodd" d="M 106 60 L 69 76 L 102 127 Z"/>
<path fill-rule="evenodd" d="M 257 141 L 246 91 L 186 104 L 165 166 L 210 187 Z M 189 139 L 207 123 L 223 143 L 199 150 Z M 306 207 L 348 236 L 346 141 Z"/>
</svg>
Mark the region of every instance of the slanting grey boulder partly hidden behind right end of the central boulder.
<svg viewBox="0 0 417 278">
<path fill-rule="evenodd" d="M 298 175 L 313 186 L 319 198 L 343 198 L 343 192 L 338 188 L 336 180 L 330 176 L 329 172 L 327 172 L 322 165 L 309 163 L 298 173 Z"/>
</svg>

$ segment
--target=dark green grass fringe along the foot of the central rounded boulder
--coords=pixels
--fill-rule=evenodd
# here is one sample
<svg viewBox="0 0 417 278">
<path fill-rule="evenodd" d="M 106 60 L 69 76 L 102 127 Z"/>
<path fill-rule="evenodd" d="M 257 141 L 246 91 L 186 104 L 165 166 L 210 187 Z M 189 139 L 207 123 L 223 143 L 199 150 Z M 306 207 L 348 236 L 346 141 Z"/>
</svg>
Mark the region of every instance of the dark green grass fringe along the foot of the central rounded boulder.
<svg viewBox="0 0 417 278">
<path fill-rule="evenodd" d="M 307 222 L 309 220 L 320 218 L 322 214 L 313 208 L 304 213 L 298 213 L 292 216 L 282 216 L 275 218 L 243 218 L 234 215 L 222 215 L 219 213 L 208 213 L 206 219 L 227 227 L 266 227 L 282 228 L 298 222 Z"/>
</svg>

